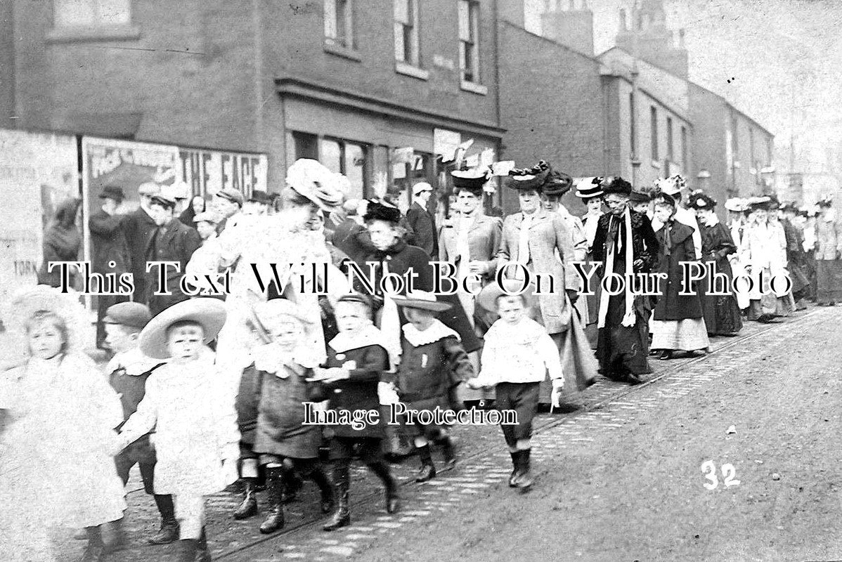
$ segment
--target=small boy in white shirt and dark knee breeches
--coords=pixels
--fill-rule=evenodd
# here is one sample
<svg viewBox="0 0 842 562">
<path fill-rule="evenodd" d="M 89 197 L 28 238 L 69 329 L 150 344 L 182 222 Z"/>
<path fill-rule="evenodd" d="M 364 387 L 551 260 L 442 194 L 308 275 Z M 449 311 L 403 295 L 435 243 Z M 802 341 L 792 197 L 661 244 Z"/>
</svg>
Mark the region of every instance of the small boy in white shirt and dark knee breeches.
<svg viewBox="0 0 842 562">
<path fill-rule="evenodd" d="M 527 317 L 531 290 L 514 294 L 518 290 L 520 281 L 506 279 L 502 287 L 488 284 L 477 295 L 477 304 L 486 310 L 496 310 L 500 318 L 485 335 L 482 370 L 467 384 L 474 389 L 494 386 L 498 410 L 517 412 L 516 424 L 500 427 L 514 464 L 509 486 L 525 491 L 533 482 L 530 470 L 532 420 L 538 411 L 539 385 L 549 373 L 552 404 L 558 406 L 564 375 L 556 344 L 544 326 Z"/>
</svg>

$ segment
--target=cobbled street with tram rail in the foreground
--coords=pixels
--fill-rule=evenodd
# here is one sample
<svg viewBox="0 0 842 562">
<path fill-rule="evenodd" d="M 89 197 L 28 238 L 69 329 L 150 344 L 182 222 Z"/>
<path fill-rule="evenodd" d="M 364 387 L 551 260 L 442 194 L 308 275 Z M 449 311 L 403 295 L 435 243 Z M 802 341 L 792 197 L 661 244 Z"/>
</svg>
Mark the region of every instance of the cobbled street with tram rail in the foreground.
<svg viewBox="0 0 842 562">
<path fill-rule="evenodd" d="M 736 514 L 754 503 L 775 501 L 771 490 L 757 488 L 759 480 L 772 477 L 770 462 L 762 459 L 773 451 L 766 450 L 761 437 L 746 443 L 757 451 L 756 456 L 745 456 L 733 450 L 732 442 L 741 434 L 764 427 L 759 422 L 764 416 L 758 411 L 763 402 L 755 401 L 752 396 L 760 395 L 759 387 L 763 384 L 772 386 L 777 392 L 791 390 L 791 377 L 795 373 L 790 368 L 797 369 L 798 374 L 810 374 L 809 380 L 815 379 L 814 384 L 820 388 L 832 389 L 835 380 L 829 379 L 828 375 L 831 363 L 838 361 L 834 355 L 838 350 L 829 344 L 838 341 L 839 334 L 834 331 L 839 331 L 835 326 L 840 315 L 842 310 L 839 309 L 811 309 L 780 323 L 749 323 L 740 337 L 712 340 L 712 353 L 705 357 L 653 361 L 655 372 L 647 379 L 647 384 L 641 386 L 630 387 L 600 378 L 578 397 L 582 406 L 578 411 L 540 416 L 533 441 L 537 481 L 534 490 L 525 496 L 509 490 L 506 484 L 510 460 L 498 427 L 460 427 L 456 432 L 460 462 L 455 469 L 441 472 L 428 483 L 414 483 L 416 459 L 393 465 L 402 482 L 402 511 L 395 515 L 386 514 L 379 483 L 364 467 L 356 465 L 351 488 L 353 524 L 334 533 L 321 530 L 322 516 L 317 512 L 315 487 L 310 483 L 305 485 L 301 500 L 287 506 L 284 531 L 269 537 L 258 533 L 261 516 L 245 522 L 234 521 L 231 512 L 237 504 L 237 496 L 221 493 L 208 502 L 209 537 L 215 559 L 242 562 L 349 557 L 443 559 L 451 554 L 484 559 L 482 553 L 488 549 L 500 549 L 501 553 L 514 557 L 516 552 L 509 552 L 511 547 L 504 546 L 509 544 L 505 537 L 509 533 L 528 535 L 529 529 L 524 528 L 527 523 L 527 526 L 536 526 L 535 530 L 543 529 L 546 540 L 551 535 L 561 537 L 562 534 L 568 536 L 568 531 L 573 532 L 562 541 L 568 543 L 569 549 L 564 550 L 560 559 L 626 559 L 621 553 L 634 544 L 629 542 L 635 535 L 634 528 L 650 529 L 645 533 L 644 542 L 653 543 L 647 547 L 646 554 L 637 559 L 675 559 L 673 554 L 650 550 L 656 548 L 658 540 L 647 521 L 651 517 L 663 518 L 669 510 L 683 512 L 689 508 L 698 515 L 699 528 L 705 531 L 690 535 L 690 542 L 696 549 L 687 554 L 692 559 L 703 552 L 698 549 L 704 549 L 707 544 L 713 549 L 707 552 L 713 555 L 718 552 L 717 548 L 727 545 L 727 538 L 708 527 L 715 523 L 708 510 L 717 513 L 736 510 L 732 531 L 739 536 L 751 535 L 749 522 Z M 805 337 L 812 337 L 807 347 L 803 345 Z M 807 362 L 813 347 L 816 358 L 813 361 L 818 361 L 815 365 Z M 818 352 L 822 348 L 833 352 L 822 356 Z M 795 363 L 789 363 L 792 361 Z M 763 369 L 762 374 L 757 372 L 759 369 Z M 827 393 L 821 397 L 829 400 Z M 780 399 L 779 396 L 774 400 Z M 738 414 L 733 411 L 737 404 L 741 405 Z M 768 411 L 774 412 L 774 409 Z M 832 416 L 831 411 L 823 409 L 823 415 L 838 426 L 838 417 Z M 681 417 L 690 419 L 676 423 Z M 703 423 L 704 419 L 707 421 Z M 733 437 L 726 434 L 731 425 L 737 432 Z M 792 431 L 799 429 L 793 424 L 787 427 Z M 626 446 L 626 440 L 632 437 L 637 447 Z M 695 446 L 700 440 L 715 442 L 716 446 L 706 446 L 702 453 Z M 781 452 L 781 448 L 775 450 Z M 787 445 L 786 451 L 801 453 L 802 444 L 794 440 Z M 685 462 L 689 462 L 688 455 L 692 457 L 690 464 Z M 700 467 L 708 459 L 716 464 L 719 479 L 719 487 L 713 491 L 702 487 L 707 480 Z M 663 467 L 679 461 L 679 471 L 664 471 Z M 727 463 L 736 468 L 732 480 L 742 483 L 725 489 L 719 467 Z M 818 472 L 811 475 L 813 459 L 805 457 L 802 463 L 791 459 L 789 463 L 793 470 L 795 465 L 801 465 L 805 483 L 826 475 L 832 468 L 817 465 Z M 783 472 L 780 467 L 776 470 Z M 787 479 L 795 478 L 793 474 L 787 475 Z M 832 490 L 834 483 L 823 478 L 822 485 L 825 489 L 831 486 Z M 114 562 L 172 559 L 171 547 L 144 544 L 157 526 L 156 512 L 150 498 L 142 493 L 136 477 L 130 482 L 130 490 L 126 521 L 131 548 L 115 554 L 112 559 Z M 641 504 L 638 494 L 662 497 L 663 501 L 669 496 L 668 511 L 658 508 L 641 517 L 639 510 L 647 502 Z M 742 501 L 737 500 L 738 496 L 742 496 Z M 539 504 L 547 511 L 537 508 Z M 782 513 L 786 509 L 788 507 L 778 506 L 775 511 Z M 781 517 L 781 513 L 776 518 Z M 687 513 L 680 515 L 675 520 L 676 526 L 686 516 Z M 668 520 L 664 518 L 662 522 Z M 782 519 L 780 522 L 785 523 Z M 827 524 L 823 522 L 822 526 Z M 785 528 L 783 525 L 777 527 L 779 532 Z M 611 528 L 616 528 L 616 533 L 604 535 L 600 531 Z M 783 536 L 785 534 L 781 533 L 781 540 L 788 540 Z M 434 543 L 429 543 L 430 536 L 436 537 Z M 534 556 L 541 557 L 544 551 L 540 545 L 545 542 L 526 543 L 531 544 Z M 472 544 L 482 548 L 468 549 Z M 68 555 L 76 555 L 81 550 L 80 543 L 68 542 L 67 545 Z M 637 547 L 641 545 L 637 544 Z M 550 544 L 544 548 L 555 549 Z M 687 545 L 676 548 L 677 552 L 685 552 L 682 549 Z M 802 554 L 811 552 L 809 547 L 802 550 Z M 536 558 L 530 555 L 525 559 Z M 775 556 L 757 559 L 775 559 Z"/>
</svg>

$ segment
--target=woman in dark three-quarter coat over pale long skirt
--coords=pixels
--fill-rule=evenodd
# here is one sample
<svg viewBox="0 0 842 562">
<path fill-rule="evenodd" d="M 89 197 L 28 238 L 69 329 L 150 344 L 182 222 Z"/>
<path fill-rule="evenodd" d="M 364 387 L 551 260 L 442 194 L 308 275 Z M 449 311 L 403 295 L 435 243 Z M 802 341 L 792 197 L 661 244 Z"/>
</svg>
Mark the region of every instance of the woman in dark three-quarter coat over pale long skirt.
<svg viewBox="0 0 842 562">
<path fill-rule="evenodd" d="M 675 200 L 667 194 L 655 198 L 655 218 L 660 228 L 655 237 L 660 245 L 658 273 L 658 304 L 655 305 L 652 326 L 652 348 L 661 350 L 661 359 L 673 357 L 676 350 L 692 352 L 710 346 L 701 299 L 694 284 L 691 294 L 680 294 L 685 284 L 682 262 L 695 262 L 693 229 L 675 220 Z"/>
</svg>

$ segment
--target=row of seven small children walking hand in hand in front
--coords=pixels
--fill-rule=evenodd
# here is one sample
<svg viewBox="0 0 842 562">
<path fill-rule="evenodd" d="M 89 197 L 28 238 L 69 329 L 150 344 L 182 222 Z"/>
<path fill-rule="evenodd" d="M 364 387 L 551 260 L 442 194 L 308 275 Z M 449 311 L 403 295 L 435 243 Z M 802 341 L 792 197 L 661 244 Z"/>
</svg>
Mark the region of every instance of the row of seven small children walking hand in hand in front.
<svg viewBox="0 0 842 562">
<path fill-rule="evenodd" d="M 222 301 L 187 300 L 154 318 L 137 303 L 110 307 L 107 341 L 115 357 L 103 377 L 71 345 L 78 335 L 69 320 L 67 295 L 39 286 L 14 303 L 25 317 L 28 359 L 0 377 L 0 446 L 19 451 L 18 456 L 4 455 L 0 468 L 8 469 L 14 459 L 27 464 L 23 459 L 31 458 L 33 448 L 44 449 L 46 466 L 56 474 L 51 473 L 53 481 L 41 482 L 43 496 L 56 492 L 51 501 L 76 511 L 56 513 L 56 525 L 85 528 L 83 560 L 99 560 L 125 545 L 120 527 L 124 486 L 138 464 L 144 488 L 161 515 L 161 527 L 148 542 L 178 540 L 180 561 L 210 560 L 205 496 L 238 478 L 243 501 L 233 514 L 237 519 L 258 512 L 256 491 L 265 482 L 269 512 L 261 533 L 284 527 L 285 492 L 298 475 L 317 484 L 322 512 L 329 513 L 326 531 L 349 525 L 349 464 L 354 456 L 382 481 L 386 511 L 399 509 L 397 480 L 384 459 L 383 416 L 368 425 L 321 427 L 305 423 L 305 403 L 319 403 L 328 411 L 379 410 L 397 390 L 408 408 L 445 410 L 454 406 L 453 388 L 466 381 L 472 388 L 496 386 L 498 407 L 517 412 L 517 424 L 503 426 L 514 464 L 509 485 L 528 490 L 538 384 L 548 372 L 557 402 L 561 363 L 552 339 L 527 317 L 528 292 L 509 294 L 516 290 L 496 284 L 486 289 L 480 303 L 497 310 L 500 319 L 486 336 L 478 376 L 456 332 L 436 319 L 448 305 L 434 294 L 395 297 L 407 320 L 400 361 L 386 351 L 388 343 L 373 322 L 368 295 L 338 299 L 338 335 L 328 342 L 327 361 L 321 365 L 312 363 L 312 350 L 306 349 L 308 331 L 318 326 L 310 326 L 290 300 L 259 303 L 253 313 L 266 343 L 253 353 L 235 397 L 208 347 L 226 320 Z M 72 414 L 67 419 L 80 422 L 69 427 L 50 422 L 66 411 Z M 42 427 L 48 428 L 46 446 L 33 443 Z M 450 427 L 416 420 L 406 430 L 421 460 L 416 481 L 436 475 L 430 442 L 440 445 L 445 464 L 455 463 Z M 62 442 L 67 444 L 56 448 Z M 329 475 L 320 449 L 327 450 Z M 41 505 L 24 502 L 27 508 Z M 4 525 L 5 533 L 17 536 L 17 529 L 20 536 L 31 534 L 25 510 L 21 517 L 8 509 L 0 516 L 9 516 L 0 522 L 17 523 Z M 40 539 L 49 543 L 46 535 Z M 31 541 L 22 543 L 31 546 Z"/>
</svg>

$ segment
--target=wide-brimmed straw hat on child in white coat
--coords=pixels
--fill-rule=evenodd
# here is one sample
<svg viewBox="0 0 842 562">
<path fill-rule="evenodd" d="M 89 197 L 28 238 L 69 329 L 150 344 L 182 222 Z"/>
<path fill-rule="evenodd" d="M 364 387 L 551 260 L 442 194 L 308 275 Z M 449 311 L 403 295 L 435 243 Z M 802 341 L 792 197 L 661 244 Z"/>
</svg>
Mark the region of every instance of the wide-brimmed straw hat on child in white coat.
<svg viewBox="0 0 842 562">
<path fill-rule="evenodd" d="M 225 304 L 218 299 L 199 298 L 184 300 L 163 310 L 152 318 L 141 331 L 141 352 L 155 359 L 169 357 L 167 330 L 180 321 L 193 321 L 205 331 L 205 343 L 212 342 L 225 325 Z"/>
</svg>

